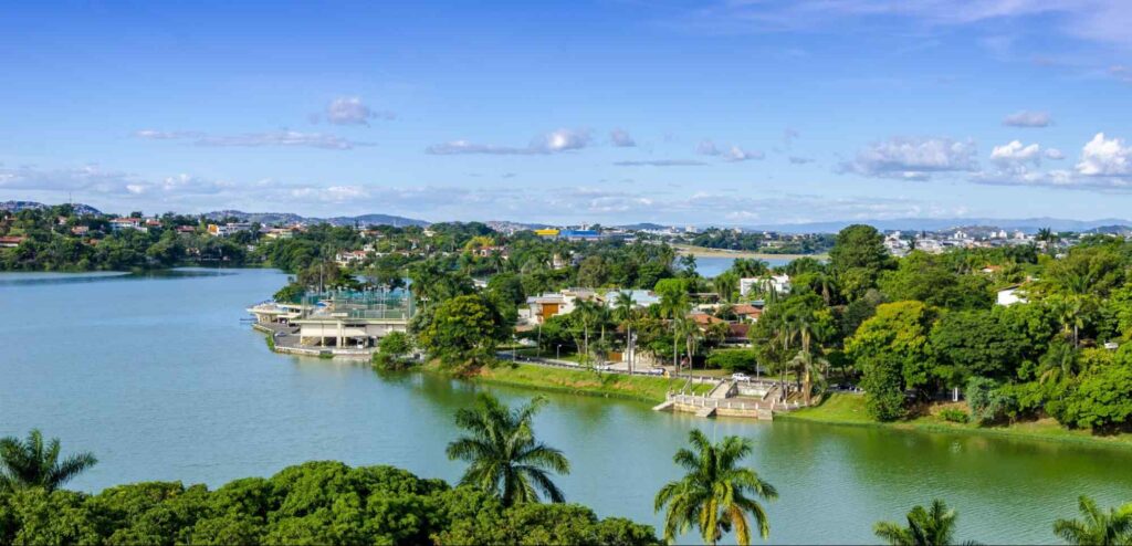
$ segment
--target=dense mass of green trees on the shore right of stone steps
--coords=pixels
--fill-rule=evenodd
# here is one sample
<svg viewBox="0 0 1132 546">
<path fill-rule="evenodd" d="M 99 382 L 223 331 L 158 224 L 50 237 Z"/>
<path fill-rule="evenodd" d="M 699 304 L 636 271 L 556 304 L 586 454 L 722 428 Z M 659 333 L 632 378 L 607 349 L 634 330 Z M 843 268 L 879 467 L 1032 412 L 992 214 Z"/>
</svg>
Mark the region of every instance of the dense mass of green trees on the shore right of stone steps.
<svg viewBox="0 0 1132 546">
<path fill-rule="evenodd" d="M 878 420 L 915 416 L 959 389 L 969 412 L 953 420 L 1052 417 L 1127 430 L 1130 268 L 1132 244 L 1120 238 L 1084 238 L 1058 256 L 1022 246 L 897 259 L 873 228 L 855 225 L 827 264 L 794 274 L 752 338 L 761 361 L 815 390 L 834 370 L 859 382 Z M 1006 288 L 1020 299 L 996 305 Z"/>
</svg>

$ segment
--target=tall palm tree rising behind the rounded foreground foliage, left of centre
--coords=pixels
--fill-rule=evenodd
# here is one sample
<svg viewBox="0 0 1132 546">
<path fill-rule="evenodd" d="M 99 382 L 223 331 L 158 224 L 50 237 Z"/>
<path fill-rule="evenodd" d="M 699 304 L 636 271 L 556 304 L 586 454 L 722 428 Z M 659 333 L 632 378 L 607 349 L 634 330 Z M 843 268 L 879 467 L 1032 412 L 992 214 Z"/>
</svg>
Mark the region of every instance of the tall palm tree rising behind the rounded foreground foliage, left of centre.
<svg viewBox="0 0 1132 546">
<path fill-rule="evenodd" d="M 471 433 L 447 449 L 448 459 L 469 463 L 460 484 L 494 493 L 507 506 L 537 503 L 539 492 L 551 502 L 563 502 L 563 492 L 547 470 L 569 474 L 569 461 L 561 451 L 537 442 L 531 427 L 544 403 L 544 398 L 537 396 L 513 410 L 481 394 L 477 408 L 456 411 L 456 426 Z"/>
</svg>

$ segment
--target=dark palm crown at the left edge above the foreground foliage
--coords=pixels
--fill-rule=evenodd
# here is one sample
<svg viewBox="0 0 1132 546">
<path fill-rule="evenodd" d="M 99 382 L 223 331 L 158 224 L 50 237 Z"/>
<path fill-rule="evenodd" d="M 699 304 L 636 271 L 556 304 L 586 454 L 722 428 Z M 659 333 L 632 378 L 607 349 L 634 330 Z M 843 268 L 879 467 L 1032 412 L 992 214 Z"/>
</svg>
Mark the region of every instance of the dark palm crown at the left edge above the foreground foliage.
<svg viewBox="0 0 1132 546">
<path fill-rule="evenodd" d="M 38 429 L 28 433 L 23 442 L 15 436 L 0 438 L 0 489 L 54 490 L 98 462 L 89 452 L 76 453 L 60 462 L 59 451 L 59 438 L 44 446 Z"/>
</svg>

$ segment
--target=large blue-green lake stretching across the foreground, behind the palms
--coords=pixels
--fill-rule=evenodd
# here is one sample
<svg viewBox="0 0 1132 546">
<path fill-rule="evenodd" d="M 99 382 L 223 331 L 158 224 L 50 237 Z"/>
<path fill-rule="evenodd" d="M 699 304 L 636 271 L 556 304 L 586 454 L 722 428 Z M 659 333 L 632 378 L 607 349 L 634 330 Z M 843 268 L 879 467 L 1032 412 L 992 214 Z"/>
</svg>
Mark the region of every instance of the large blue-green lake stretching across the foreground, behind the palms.
<svg viewBox="0 0 1132 546">
<path fill-rule="evenodd" d="M 100 463 L 84 490 L 140 480 L 218 486 L 311 459 L 394 464 L 453 481 L 452 415 L 481 386 L 271 352 L 243 312 L 285 281 L 269 270 L 0 275 L 0 435 L 33 427 Z M 489 389 L 507 402 L 530 391 Z M 1077 496 L 1132 501 L 1132 451 L 801 423 L 707 420 L 552 394 L 539 436 L 564 450 L 567 498 L 660 527 L 687 432 L 751 437 L 774 484 L 772 543 L 875 543 L 872 526 L 943 498 L 959 537 L 1048 543 Z"/>
</svg>

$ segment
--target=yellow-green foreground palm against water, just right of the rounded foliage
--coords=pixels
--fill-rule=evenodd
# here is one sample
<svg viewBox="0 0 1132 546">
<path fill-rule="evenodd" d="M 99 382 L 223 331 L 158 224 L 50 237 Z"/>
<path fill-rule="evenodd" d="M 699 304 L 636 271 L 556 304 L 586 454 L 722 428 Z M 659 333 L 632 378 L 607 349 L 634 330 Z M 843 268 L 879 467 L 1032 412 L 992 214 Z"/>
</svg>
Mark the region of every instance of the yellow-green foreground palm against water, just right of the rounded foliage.
<svg viewBox="0 0 1132 546">
<path fill-rule="evenodd" d="M 758 535 L 769 537 L 770 522 L 757 498 L 773 501 L 778 492 L 754 470 L 738 467 L 751 454 L 751 440 L 727 436 L 713 444 L 700 430 L 692 430 L 688 443 L 691 450 L 680 449 L 672 458 L 687 474 L 661 487 L 654 501 L 657 512 L 667 506 L 664 540 L 672 543 L 696 526 L 705 544 L 715 544 L 724 532 L 735 530 L 736 541 L 748 545 L 747 514 L 754 517 Z"/>
</svg>

